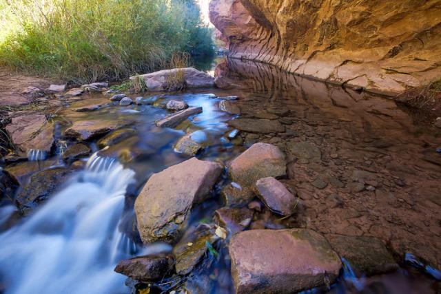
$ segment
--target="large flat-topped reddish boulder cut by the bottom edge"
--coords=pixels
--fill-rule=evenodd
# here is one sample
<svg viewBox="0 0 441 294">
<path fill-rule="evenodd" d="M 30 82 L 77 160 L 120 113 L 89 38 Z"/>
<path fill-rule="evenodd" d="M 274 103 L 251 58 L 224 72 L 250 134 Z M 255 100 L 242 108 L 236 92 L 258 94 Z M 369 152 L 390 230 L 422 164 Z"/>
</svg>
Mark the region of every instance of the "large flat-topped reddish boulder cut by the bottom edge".
<svg viewBox="0 0 441 294">
<path fill-rule="evenodd" d="M 251 230 L 229 244 L 236 293 L 296 293 L 334 282 L 342 266 L 327 240 L 309 229 Z"/>
</svg>

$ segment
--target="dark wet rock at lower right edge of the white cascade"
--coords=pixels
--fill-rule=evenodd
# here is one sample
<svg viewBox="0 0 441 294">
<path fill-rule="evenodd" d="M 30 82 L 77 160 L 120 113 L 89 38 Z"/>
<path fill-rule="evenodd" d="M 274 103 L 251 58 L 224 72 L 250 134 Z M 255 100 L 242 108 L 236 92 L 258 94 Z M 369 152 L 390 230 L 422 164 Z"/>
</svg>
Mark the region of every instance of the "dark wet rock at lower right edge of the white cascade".
<svg viewBox="0 0 441 294">
<path fill-rule="evenodd" d="M 172 255 L 145 255 L 121 260 L 114 271 L 136 281 L 151 282 L 171 275 L 173 266 L 174 258 Z"/>
</svg>

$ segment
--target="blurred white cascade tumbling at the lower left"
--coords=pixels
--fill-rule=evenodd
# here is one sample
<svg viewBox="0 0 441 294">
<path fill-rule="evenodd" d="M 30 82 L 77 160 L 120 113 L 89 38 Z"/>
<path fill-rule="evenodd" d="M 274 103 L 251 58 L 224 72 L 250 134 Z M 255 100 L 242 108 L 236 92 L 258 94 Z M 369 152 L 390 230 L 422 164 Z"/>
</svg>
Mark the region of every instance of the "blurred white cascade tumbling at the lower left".
<svg viewBox="0 0 441 294">
<path fill-rule="evenodd" d="M 116 263 L 135 245 L 118 230 L 134 171 L 92 156 L 85 171 L 30 218 L 0 234 L 5 294 L 127 293 Z M 12 213 L 0 210 L 0 222 Z"/>
</svg>

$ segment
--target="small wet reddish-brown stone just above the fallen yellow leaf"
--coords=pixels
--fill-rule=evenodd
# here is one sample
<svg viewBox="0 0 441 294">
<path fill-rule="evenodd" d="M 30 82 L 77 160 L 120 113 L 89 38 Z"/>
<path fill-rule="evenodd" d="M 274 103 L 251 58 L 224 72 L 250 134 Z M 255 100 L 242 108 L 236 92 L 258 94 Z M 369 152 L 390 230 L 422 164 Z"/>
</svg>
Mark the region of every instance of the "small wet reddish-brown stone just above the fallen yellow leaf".
<svg viewBox="0 0 441 294">
<path fill-rule="evenodd" d="M 214 212 L 214 218 L 220 227 L 226 228 L 230 235 L 234 235 L 240 231 L 247 229 L 253 219 L 253 211 L 242 208 L 223 207 Z"/>
</svg>

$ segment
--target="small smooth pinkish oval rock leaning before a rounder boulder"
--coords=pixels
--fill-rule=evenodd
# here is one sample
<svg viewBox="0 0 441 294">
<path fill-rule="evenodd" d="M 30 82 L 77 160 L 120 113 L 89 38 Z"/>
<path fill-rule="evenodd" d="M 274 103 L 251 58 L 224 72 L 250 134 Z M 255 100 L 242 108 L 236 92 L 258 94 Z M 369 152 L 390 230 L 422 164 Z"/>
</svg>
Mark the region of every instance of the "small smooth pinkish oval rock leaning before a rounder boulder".
<svg viewBox="0 0 441 294">
<path fill-rule="evenodd" d="M 256 182 L 256 191 L 269 210 L 283 216 L 296 212 L 298 199 L 276 178 L 261 178 Z"/>
</svg>

